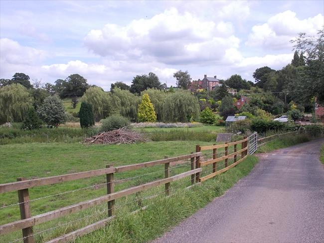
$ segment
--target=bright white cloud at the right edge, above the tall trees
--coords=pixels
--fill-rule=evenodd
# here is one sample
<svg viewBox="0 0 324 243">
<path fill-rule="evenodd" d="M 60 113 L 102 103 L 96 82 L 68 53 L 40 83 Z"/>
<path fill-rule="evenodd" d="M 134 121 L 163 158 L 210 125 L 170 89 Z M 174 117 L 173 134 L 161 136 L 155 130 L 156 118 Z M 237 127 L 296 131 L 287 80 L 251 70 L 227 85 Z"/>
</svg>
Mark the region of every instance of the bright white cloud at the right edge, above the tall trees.
<svg viewBox="0 0 324 243">
<path fill-rule="evenodd" d="M 264 24 L 254 25 L 246 44 L 272 50 L 289 48 L 292 46 L 289 41 L 298 33 L 315 34 L 323 24 L 322 14 L 301 20 L 295 12 L 287 10 L 270 17 Z"/>
</svg>

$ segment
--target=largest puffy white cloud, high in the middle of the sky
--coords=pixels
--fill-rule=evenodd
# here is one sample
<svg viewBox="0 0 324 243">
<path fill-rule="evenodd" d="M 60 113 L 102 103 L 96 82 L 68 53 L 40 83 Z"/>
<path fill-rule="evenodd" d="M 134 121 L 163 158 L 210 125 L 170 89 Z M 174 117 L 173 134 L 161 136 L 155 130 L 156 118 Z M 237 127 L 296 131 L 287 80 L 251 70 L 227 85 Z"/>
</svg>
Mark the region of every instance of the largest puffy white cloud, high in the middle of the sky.
<svg viewBox="0 0 324 243">
<path fill-rule="evenodd" d="M 93 52 L 115 60 L 183 64 L 221 60 L 226 49 L 239 46 L 233 31 L 230 22 L 202 21 L 170 8 L 125 26 L 108 23 L 91 30 L 84 42 Z"/>
</svg>

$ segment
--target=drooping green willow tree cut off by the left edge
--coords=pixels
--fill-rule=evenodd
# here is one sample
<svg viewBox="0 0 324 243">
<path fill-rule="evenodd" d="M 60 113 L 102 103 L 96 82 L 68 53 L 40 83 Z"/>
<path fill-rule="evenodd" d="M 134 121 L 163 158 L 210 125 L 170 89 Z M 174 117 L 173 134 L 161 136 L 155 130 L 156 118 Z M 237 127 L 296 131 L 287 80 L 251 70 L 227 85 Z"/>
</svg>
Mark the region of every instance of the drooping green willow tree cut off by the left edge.
<svg viewBox="0 0 324 243">
<path fill-rule="evenodd" d="M 33 104 L 33 98 L 21 84 L 0 88 L 0 122 L 20 122 Z"/>
</svg>

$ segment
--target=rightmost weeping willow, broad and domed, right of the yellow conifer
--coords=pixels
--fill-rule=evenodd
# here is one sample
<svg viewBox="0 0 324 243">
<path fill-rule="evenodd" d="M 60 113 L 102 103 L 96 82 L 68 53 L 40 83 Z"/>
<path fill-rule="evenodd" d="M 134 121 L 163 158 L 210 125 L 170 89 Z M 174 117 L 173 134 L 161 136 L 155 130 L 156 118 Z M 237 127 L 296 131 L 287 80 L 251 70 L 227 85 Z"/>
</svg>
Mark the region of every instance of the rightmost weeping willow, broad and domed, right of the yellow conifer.
<svg viewBox="0 0 324 243">
<path fill-rule="evenodd" d="M 164 122 L 189 122 L 199 118 L 198 99 L 188 90 L 169 94 L 163 104 Z"/>
</svg>

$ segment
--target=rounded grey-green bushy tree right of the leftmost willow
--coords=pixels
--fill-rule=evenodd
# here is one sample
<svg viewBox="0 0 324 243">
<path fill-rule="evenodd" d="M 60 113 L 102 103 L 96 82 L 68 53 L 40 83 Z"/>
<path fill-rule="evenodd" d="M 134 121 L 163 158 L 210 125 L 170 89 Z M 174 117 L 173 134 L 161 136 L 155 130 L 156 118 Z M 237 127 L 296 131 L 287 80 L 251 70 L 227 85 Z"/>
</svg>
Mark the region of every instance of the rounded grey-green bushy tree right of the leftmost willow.
<svg viewBox="0 0 324 243">
<path fill-rule="evenodd" d="M 65 107 L 57 95 L 45 98 L 42 106 L 38 108 L 37 113 L 47 125 L 55 127 L 65 123 L 67 120 Z"/>
</svg>

